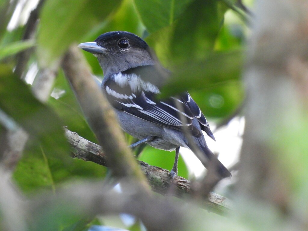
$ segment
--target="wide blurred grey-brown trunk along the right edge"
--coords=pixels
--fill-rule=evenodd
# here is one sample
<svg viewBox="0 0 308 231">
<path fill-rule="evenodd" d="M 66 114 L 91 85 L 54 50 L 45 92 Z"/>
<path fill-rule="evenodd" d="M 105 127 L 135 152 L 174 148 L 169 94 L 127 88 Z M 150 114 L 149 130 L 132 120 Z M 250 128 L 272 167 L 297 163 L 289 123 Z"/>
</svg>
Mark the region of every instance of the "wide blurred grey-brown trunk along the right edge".
<svg viewBox="0 0 308 231">
<path fill-rule="evenodd" d="M 241 198 L 275 207 L 285 221 L 290 219 L 289 225 L 305 230 L 308 111 L 302 89 L 308 89 L 307 12 L 306 1 L 256 1 L 238 175 Z"/>
</svg>

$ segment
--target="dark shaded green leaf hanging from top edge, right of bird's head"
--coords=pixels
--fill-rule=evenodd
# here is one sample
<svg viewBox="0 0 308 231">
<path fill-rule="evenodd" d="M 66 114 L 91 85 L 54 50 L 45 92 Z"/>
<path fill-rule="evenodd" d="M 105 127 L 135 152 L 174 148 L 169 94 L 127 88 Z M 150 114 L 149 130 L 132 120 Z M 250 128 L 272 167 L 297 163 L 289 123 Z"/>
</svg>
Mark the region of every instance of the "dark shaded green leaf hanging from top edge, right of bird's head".
<svg viewBox="0 0 308 231">
<path fill-rule="evenodd" d="M 223 15 L 216 0 L 196 0 L 180 17 L 171 40 L 174 62 L 203 60 L 213 50 Z"/>
</svg>

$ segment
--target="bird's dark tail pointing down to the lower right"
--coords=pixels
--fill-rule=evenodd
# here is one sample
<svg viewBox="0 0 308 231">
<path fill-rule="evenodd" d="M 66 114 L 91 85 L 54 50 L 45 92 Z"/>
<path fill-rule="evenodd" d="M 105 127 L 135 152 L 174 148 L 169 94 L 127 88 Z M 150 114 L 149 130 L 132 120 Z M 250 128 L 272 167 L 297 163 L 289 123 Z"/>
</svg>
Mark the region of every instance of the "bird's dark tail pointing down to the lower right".
<svg viewBox="0 0 308 231">
<path fill-rule="evenodd" d="M 188 145 L 191 150 L 194 150 L 194 147 L 191 147 L 191 145 Z M 206 155 L 206 158 L 201 158 L 197 155 L 198 159 L 200 159 L 201 163 L 204 165 L 205 168 L 213 167 L 213 165 L 216 166 L 217 174 L 219 174 L 222 178 L 230 177 L 231 173 L 229 170 L 217 159 L 217 157 L 214 155 L 214 153 L 209 150 L 208 146 L 205 144 L 205 146 L 200 145 L 199 146 L 201 150 Z"/>
</svg>

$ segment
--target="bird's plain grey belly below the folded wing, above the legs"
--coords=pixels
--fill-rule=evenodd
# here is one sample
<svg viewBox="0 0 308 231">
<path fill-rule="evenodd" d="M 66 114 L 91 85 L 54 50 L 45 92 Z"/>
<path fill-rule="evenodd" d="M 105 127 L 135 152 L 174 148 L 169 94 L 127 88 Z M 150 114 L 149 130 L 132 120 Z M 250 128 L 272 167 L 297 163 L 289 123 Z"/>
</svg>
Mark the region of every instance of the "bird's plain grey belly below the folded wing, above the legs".
<svg viewBox="0 0 308 231">
<path fill-rule="evenodd" d="M 158 126 L 123 111 L 116 110 L 115 112 L 125 132 L 140 140 L 148 136 L 155 137 L 147 143 L 157 149 L 172 151 L 179 146 L 187 147 L 180 131 Z"/>
</svg>

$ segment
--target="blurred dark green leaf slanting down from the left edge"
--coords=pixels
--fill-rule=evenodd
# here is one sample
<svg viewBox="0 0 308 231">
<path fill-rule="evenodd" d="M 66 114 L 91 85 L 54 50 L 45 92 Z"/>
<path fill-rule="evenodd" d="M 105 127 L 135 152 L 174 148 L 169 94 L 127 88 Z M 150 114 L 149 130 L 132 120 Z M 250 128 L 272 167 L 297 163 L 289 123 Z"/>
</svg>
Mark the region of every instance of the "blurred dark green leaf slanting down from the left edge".
<svg viewBox="0 0 308 231">
<path fill-rule="evenodd" d="M 0 66 L 0 108 L 26 130 L 31 143 L 42 146 L 47 155 L 68 156 L 69 146 L 57 115 L 3 65 Z"/>
</svg>

